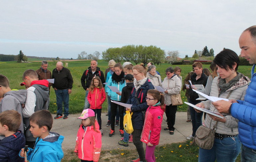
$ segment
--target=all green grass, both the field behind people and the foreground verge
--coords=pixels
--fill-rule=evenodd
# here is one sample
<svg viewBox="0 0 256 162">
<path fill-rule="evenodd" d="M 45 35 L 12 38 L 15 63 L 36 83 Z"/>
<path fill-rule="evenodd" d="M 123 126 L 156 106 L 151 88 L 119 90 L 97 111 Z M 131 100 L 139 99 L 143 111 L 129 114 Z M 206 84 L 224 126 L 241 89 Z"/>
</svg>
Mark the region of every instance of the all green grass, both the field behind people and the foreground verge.
<svg viewBox="0 0 256 162">
<path fill-rule="evenodd" d="M 105 72 L 108 61 L 100 60 L 98 61 L 98 67 Z M 6 75 L 10 81 L 10 87 L 12 89 L 24 89 L 21 87 L 20 83 L 22 81 L 22 74 L 26 69 L 37 70 L 41 66 L 41 62 L 31 62 L 31 63 L 17 63 L 17 62 L 0 62 L 0 74 Z M 84 70 L 90 66 L 90 61 L 70 61 L 68 62 L 68 68 L 73 76 L 73 89 L 70 94 L 69 101 L 69 112 L 70 113 L 80 113 L 83 109 L 85 91 L 83 90 L 80 82 L 80 78 Z M 170 64 L 163 63 L 157 66 L 157 71 L 160 72 L 162 79 L 165 76 L 165 69 L 169 67 Z M 181 75 L 183 78 L 187 76 L 187 73 L 192 70 L 192 65 L 179 65 L 182 69 Z M 56 67 L 55 62 L 49 62 L 48 69 L 52 71 Z M 175 67 L 175 66 L 173 66 Z M 209 68 L 209 65 L 203 65 L 203 68 Z M 245 76 L 251 77 L 251 67 L 252 66 L 239 66 L 238 72 L 243 73 Z M 182 100 L 186 101 L 185 92 L 182 91 Z M 56 96 L 53 88 L 51 88 L 50 93 L 50 107 L 49 110 L 54 113 L 57 110 Z M 103 112 L 107 110 L 107 102 L 103 104 Z M 187 105 L 183 104 L 178 106 L 178 111 L 187 111 Z M 129 161 L 136 158 L 136 150 L 104 150 L 101 152 L 100 161 Z M 157 146 L 155 150 L 157 161 L 197 161 L 198 160 L 198 146 L 190 146 L 189 142 L 166 144 L 164 146 Z M 66 150 L 64 158 L 62 161 L 80 161 L 73 153 L 73 150 Z M 240 161 L 240 155 L 236 159 Z"/>
</svg>

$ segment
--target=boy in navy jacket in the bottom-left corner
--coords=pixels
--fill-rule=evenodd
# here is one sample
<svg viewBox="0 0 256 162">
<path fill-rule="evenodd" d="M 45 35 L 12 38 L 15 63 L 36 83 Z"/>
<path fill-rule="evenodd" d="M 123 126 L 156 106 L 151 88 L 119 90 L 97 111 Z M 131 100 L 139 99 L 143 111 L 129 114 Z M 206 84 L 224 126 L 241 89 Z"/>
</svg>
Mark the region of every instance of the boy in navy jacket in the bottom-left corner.
<svg viewBox="0 0 256 162">
<path fill-rule="evenodd" d="M 23 162 L 19 151 L 25 146 L 25 136 L 18 130 L 21 124 L 21 115 L 15 110 L 6 110 L 0 113 L 0 135 L 5 138 L 0 141 L 1 162 Z"/>
</svg>

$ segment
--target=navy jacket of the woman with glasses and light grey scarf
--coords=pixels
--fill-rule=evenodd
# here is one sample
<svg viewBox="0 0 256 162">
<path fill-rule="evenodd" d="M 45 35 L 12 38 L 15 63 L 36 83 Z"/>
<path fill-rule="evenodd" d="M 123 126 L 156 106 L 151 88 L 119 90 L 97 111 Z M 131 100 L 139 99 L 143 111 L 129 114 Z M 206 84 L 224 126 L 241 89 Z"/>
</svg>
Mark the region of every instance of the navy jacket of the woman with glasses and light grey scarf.
<svg viewBox="0 0 256 162">
<path fill-rule="evenodd" d="M 135 93 L 136 90 L 133 87 L 131 95 L 127 101 L 128 104 L 132 104 L 131 111 L 133 112 L 132 114 L 132 126 L 133 129 L 139 129 L 142 130 L 143 128 L 143 117 L 142 117 L 142 111 L 146 111 L 148 108 L 147 102 L 146 102 L 146 96 L 147 92 L 150 89 L 155 89 L 153 84 L 147 80 L 145 84 L 143 84 L 137 91 L 137 97 L 140 102 L 138 105 L 137 100 L 135 99 Z"/>
</svg>

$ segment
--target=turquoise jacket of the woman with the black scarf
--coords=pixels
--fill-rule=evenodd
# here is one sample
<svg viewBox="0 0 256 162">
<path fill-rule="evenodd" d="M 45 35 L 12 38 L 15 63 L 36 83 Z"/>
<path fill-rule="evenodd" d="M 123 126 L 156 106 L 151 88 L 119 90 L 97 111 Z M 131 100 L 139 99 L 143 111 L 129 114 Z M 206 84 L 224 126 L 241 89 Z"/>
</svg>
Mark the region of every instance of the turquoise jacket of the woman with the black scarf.
<svg viewBox="0 0 256 162">
<path fill-rule="evenodd" d="M 118 94 L 116 94 L 116 92 L 111 91 L 111 89 L 108 86 L 115 86 L 117 87 L 117 89 L 122 92 L 122 89 L 125 87 L 125 82 L 121 83 L 118 82 L 113 83 L 112 82 L 112 76 L 109 77 L 107 85 L 105 87 L 106 89 L 106 93 L 108 94 L 108 97 L 110 96 L 110 100 L 114 100 L 114 101 L 120 101 L 121 100 L 121 96 L 119 96 Z"/>
</svg>

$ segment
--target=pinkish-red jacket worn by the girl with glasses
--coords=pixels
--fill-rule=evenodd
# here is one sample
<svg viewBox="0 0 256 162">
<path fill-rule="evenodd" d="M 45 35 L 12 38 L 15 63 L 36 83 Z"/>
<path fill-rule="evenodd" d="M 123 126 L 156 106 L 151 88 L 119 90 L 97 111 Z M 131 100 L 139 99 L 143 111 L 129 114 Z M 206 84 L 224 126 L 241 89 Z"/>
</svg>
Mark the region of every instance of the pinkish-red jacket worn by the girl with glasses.
<svg viewBox="0 0 256 162">
<path fill-rule="evenodd" d="M 149 106 L 146 111 L 141 141 L 148 144 L 158 145 L 163 121 L 164 111 L 160 106 Z"/>
</svg>

